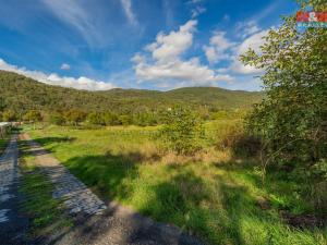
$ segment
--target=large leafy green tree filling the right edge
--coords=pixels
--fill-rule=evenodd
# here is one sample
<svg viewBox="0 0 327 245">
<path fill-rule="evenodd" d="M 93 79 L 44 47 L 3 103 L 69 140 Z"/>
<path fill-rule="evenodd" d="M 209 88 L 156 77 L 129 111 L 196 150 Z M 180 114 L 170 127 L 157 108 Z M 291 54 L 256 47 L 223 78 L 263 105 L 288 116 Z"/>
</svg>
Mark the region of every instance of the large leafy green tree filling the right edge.
<svg viewBox="0 0 327 245">
<path fill-rule="evenodd" d="M 301 4 L 327 10 L 326 1 Z M 241 57 L 265 71 L 261 78 L 266 97 L 249 118 L 249 128 L 263 139 L 263 176 L 274 162 L 313 186 L 327 176 L 327 29 L 299 30 L 295 16 L 289 16 L 264 40 L 259 52 L 250 49 Z"/>
</svg>

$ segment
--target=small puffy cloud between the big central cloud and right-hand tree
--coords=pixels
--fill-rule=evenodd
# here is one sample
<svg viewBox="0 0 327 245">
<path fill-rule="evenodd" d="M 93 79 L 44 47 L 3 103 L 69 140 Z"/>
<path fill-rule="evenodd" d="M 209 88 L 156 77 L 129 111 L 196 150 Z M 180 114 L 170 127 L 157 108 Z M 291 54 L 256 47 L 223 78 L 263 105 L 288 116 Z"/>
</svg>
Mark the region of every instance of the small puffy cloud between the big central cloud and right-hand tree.
<svg viewBox="0 0 327 245">
<path fill-rule="evenodd" d="M 230 51 L 233 47 L 235 47 L 235 42 L 226 38 L 225 32 L 215 32 L 209 46 L 204 46 L 203 49 L 209 63 L 216 63 L 231 59 Z"/>
</svg>

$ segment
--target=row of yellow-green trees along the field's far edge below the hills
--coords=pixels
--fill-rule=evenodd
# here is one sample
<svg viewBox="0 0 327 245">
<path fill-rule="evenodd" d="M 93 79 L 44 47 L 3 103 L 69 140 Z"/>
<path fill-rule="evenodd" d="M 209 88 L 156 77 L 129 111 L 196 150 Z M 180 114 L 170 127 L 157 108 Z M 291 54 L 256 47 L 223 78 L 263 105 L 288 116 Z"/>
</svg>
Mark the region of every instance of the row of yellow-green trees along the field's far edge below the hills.
<svg viewBox="0 0 327 245">
<path fill-rule="evenodd" d="M 185 108 L 185 107 L 184 107 Z M 116 112 L 97 112 L 97 111 L 82 111 L 82 110 L 65 110 L 65 111 L 40 111 L 27 110 L 16 112 L 13 110 L 0 111 L 0 121 L 3 122 L 47 122 L 55 125 L 73 125 L 81 124 L 98 125 L 98 126 L 114 126 L 114 125 L 137 125 L 137 126 L 154 126 L 165 124 L 167 121 L 167 111 L 138 111 L 134 113 L 116 113 Z M 246 110 L 217 110 L 208 111 L 205 109 L 193 109 L 201 120 L 219 120 L 219 119 L 240 119 L 246 114 Z"/>
</svg>

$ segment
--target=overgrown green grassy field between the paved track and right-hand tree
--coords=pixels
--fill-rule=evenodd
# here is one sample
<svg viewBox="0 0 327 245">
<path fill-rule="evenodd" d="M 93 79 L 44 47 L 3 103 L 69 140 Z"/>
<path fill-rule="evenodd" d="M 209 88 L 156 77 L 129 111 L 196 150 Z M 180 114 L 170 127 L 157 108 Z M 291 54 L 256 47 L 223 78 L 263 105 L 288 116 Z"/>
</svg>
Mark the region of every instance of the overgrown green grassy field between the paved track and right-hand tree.
<svg viewBox="0 0 327 245">
<path fill-rule="evenodd" d="M 206 124 L 204 149 L 192 157 L 165 150 L 158 127 L 25 130 L 102 198 L 177 224 L 208 244 L 326 244 L 326 230 L 282 221 L 280 210 L 312 210 L 294 183 L 270 173 L 263 186 L 254 160 L 222 147 L 237 123 Z"/>
</svg>

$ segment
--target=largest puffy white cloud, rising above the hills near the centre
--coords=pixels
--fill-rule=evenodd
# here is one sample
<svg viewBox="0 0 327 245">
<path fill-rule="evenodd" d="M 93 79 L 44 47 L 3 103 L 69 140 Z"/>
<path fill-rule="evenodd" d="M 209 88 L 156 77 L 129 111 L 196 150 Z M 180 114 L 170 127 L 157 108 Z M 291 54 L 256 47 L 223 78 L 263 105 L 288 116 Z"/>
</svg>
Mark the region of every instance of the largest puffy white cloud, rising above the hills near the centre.
<svg viewBox="0 0 327 245">
<path fill-rule="evenodd" d="M 196 21 L 189 21 L 178 32 L 165 35 L 159 33 L 156 41 L 146 46 L 149 53 L 136 53 L 132 61 L 136 76 L 152 81 L 158 86 L 205 86 L 217 82 L 231 82 L 233 77 L 217 74 L 216 71 L 201 64 L 198 58 L 183 60 L 182 54 L 192 46 Z"/>
</svg>

